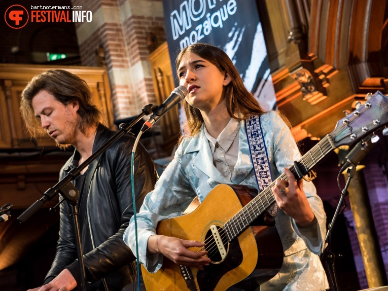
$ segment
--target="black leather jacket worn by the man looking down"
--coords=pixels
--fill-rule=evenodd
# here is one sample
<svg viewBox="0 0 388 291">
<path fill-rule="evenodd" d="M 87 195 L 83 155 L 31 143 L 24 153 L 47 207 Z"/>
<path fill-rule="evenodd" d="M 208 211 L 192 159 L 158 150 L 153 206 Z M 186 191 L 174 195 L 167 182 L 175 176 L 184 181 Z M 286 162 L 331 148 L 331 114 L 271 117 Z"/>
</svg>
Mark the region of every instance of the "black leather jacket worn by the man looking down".
<svg viewBox="0 0 388 291">
<path fill-rule="evenodd" d="M 114 131 L 99 125 L 93 152 L 113 134 Z M 84 205 L 86 211 L 80 212 L 80 217 L 82 214 L 84 216 L 84 221 L 81 222 L 83 224 L 81 239 L 86 279 L 89 282 L 97 281 L 94 284 L 99 286 L 98 289 L 101 289 L 103 284 L 108 285 L 110 291 L 132 290 L 133 287 L 135 257 L 123 241 L 123 233 L 133 215 L 130 166 L 133 143 L 134 138 L 126 134 L 101 154 L 90 182 L 87 204 Z M 75 151 L 73 157 L 62 167 L 60 178 L 63 178 L 70 169 L 78 166 L 78 159 L 79 153 Z M 89 165 L 85 174 L 87 175 L 92 168 Z M 146 194 L 154 189 L 156 179 L 157 174 L 151 157 L 144 147 L 138 144 L 134 158 L 134 193 L 137 211 Z M 85 203 L 81 199 L 80 201 Z M 78 261 L 75 261 L 77 251 L 74 227 L 69 211 L 68 204 L 62 203 L 57 251 L 45 283 L 67 268 L 76 278 L 78 286 L 80 285 Z M 102 278 L 104 280 L 101 281 Z"/>
</svg>

